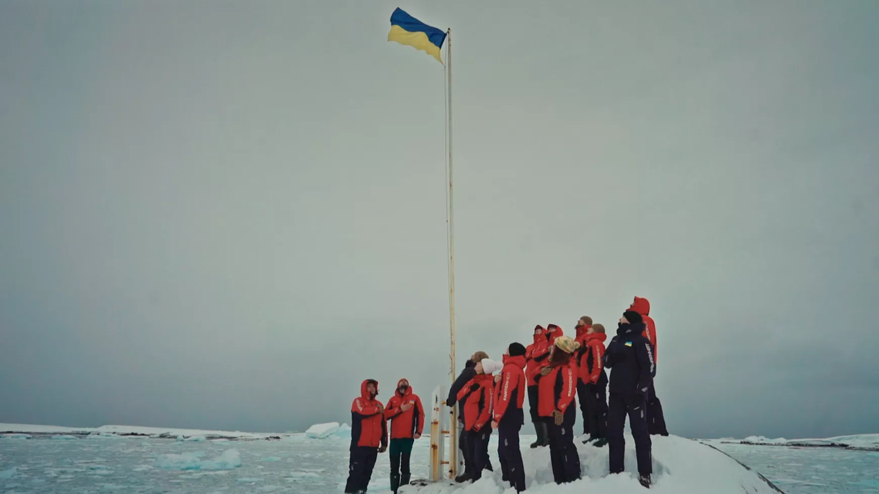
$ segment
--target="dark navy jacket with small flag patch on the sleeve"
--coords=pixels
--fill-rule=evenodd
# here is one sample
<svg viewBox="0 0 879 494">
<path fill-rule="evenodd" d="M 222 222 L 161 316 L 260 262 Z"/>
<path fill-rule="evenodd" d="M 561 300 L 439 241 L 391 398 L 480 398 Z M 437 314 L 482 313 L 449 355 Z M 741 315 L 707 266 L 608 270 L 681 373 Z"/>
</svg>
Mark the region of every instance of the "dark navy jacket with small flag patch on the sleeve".
<svg viewBox="0 0 879 494">
<path fill-rule="evenodd" d="M 644 338 L 644 323 L 621 324 L 607 345 L 605 367 L 610 372 L 610 392 L 647 395 L 656 375 L 656 363 L 650 340 Z"/>
</svg>

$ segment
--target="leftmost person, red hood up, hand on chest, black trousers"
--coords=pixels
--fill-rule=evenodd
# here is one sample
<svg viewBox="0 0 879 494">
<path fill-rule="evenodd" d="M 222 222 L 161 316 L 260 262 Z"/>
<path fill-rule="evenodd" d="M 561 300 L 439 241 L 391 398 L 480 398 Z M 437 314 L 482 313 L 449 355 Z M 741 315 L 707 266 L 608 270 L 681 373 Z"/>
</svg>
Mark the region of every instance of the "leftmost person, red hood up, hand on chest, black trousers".
<svg viewBox="0 0 879 494">
<path fill-rule="evenodd" d="M 364 494 L 373 476 L 375 460 L 388 449 L 388 425 L 384 407 L 375 397 L 379 381 L 367 379 L 360 384 L 360 396 L 351 404 L 351 457 L 345 494 Z"/>
</svg>

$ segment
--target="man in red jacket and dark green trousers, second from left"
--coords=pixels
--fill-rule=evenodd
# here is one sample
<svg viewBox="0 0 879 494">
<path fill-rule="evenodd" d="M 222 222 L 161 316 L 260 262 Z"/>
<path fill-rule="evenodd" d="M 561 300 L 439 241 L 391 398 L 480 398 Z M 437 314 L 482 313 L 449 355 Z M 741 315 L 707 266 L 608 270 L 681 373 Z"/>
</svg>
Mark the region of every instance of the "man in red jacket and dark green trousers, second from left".
<svg viewBox="0 0 879 494">
<path fill-rule="evenodd" d="M 390 420 L 390 490 L 396 494 L 401 485 L 409 483 L 412 444 L 425 428 L 425 407 L 412 393 L 408 380 L 397 381 L 384 416 Z"/>
</svg>

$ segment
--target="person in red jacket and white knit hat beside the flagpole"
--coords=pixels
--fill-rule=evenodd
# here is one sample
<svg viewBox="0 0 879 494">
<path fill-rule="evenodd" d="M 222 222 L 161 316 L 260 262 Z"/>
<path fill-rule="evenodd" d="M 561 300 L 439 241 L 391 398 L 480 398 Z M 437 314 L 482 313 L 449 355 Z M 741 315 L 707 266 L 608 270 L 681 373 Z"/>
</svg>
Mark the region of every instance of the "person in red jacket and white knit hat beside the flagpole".
<svg viewBox="0 0 879 494">
<path fill-rule="evenodd" d="M 489 462 L 489 438 L 491 436 L 491 401 L 493 378 L 491 373 L 501 369 L 494 360 L 483 359 L 476 364 L 476 377 L 458 392 L 458 401 L 464 403 L 464 436 L 467 438 L 467 461 L 469 470 L 454 477 L 457 483 L 477 481 L 483 477 L 483 469 Z"/>
</svg>

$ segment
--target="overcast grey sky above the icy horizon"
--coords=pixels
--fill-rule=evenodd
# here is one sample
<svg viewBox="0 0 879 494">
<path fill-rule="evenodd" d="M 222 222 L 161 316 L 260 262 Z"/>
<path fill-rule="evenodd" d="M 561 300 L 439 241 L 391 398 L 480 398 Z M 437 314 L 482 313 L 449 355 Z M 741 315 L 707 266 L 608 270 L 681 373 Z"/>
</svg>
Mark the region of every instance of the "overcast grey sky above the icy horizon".
<svg viewBox="0 0 879 494">
<path fill-rule="evenodd" d="M 672 433 L 879 432 L 879 4 L 0 4 L 0 422 L 253 431 L 648 297 Z M 459 362 L 459 367 L 460 367 Z"/>
</svg>

